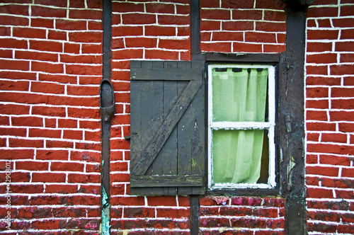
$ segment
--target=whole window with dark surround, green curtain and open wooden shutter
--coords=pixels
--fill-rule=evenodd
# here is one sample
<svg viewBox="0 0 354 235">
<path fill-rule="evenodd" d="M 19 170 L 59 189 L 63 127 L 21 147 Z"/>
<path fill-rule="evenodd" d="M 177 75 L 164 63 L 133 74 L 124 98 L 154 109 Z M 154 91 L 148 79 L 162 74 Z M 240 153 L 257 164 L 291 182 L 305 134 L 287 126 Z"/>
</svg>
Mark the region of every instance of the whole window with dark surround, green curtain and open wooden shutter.
<svg viewBox="0 0 354 235">
<path fill-rule="evenodd" d="M 280 56 L 219 56 L 130 62 L 130 194 L 280 193 Z"/>
</svg>

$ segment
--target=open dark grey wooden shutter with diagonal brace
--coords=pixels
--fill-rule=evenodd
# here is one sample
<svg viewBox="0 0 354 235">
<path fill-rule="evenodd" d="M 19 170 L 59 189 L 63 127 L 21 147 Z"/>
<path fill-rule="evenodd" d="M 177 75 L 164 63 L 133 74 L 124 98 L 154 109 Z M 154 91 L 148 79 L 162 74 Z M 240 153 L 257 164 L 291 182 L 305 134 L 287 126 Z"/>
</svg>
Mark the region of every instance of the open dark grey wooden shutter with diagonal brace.
<svg viewBox="0 0 354 235">
<path fill-rule="evenodd" d="M 130 62 L 130 193 L 204 193 L 204 62 Z"/>
</svg>

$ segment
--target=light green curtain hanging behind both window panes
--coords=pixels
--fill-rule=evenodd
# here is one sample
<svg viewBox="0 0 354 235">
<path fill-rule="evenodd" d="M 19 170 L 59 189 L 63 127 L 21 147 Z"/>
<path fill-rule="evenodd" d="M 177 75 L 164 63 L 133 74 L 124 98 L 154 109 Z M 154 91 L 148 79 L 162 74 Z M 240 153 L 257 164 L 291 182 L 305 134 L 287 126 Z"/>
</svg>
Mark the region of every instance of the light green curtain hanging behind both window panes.
<svg viewBox="0 0 354 235">
<path fill-rule="evenodd" d="M 213 69 L 212 122 L 265 122 L 268 69 Z M 256 183 L 265 130 L 212 130 L 214 183 Z"/>
</svg>

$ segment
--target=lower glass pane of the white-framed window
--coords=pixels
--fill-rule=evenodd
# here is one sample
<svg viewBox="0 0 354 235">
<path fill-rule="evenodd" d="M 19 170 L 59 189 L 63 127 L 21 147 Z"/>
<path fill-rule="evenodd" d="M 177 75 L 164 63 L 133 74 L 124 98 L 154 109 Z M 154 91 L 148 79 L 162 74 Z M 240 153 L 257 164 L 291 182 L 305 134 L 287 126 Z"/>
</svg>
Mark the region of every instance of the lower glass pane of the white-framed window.
<svg viewBox="0 0 354 235">
<path fill-rule="evenodd" d="M 263 183 L 268 181 L 268 161 L 265 130 L 212 131 L 213 183 L 257 183 L 261 172 Z"/>
</svg>

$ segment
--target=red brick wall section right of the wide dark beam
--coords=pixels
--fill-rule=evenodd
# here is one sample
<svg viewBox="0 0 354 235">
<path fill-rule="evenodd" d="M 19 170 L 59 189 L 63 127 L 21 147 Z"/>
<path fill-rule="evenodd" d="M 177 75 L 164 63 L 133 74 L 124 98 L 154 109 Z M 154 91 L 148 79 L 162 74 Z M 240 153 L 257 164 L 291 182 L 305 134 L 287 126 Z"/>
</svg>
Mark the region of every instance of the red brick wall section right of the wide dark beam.
<svg viewBox="0 0 354 235">
<path fill-rule="evenodd" d="M 315 1 L 307 12 L 308 231 L 354 231 L 354 2 Z"/>
</svg>

